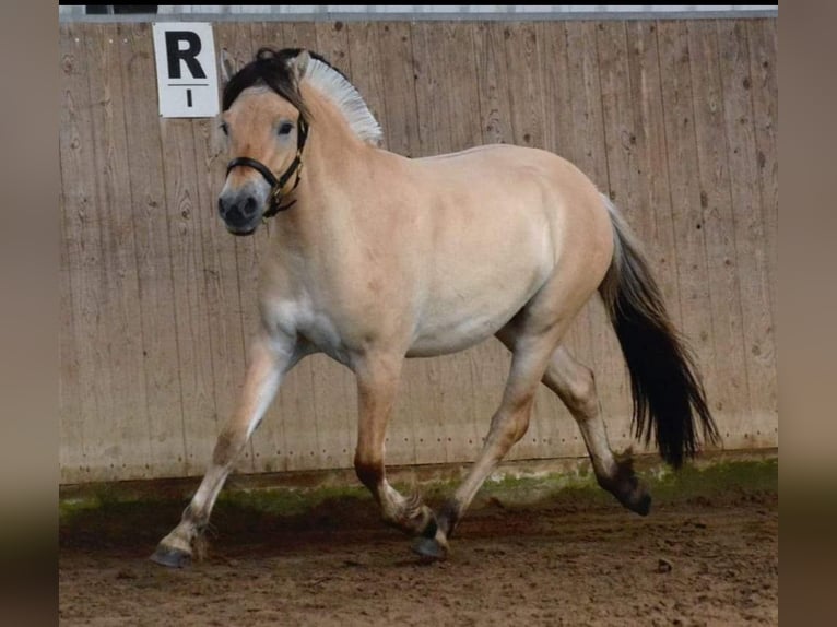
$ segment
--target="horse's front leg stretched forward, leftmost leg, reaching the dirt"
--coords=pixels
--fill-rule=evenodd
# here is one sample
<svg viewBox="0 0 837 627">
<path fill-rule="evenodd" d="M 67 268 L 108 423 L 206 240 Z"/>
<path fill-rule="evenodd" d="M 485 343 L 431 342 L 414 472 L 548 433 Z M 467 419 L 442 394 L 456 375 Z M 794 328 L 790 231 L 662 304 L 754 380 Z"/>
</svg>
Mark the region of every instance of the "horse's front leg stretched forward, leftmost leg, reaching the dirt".
<svg viewBox="0 0 837 627">
<path fill-rule="evenodd" d="M 262 334 L 252 343 L 250 365 L 237 409 L 217 437 L 209 470 L 184 511 L 180 523 L 160 542 L 151 556 L 152 560 L 172 567 L 189 563 L 192 545 L 209 523 L 212 507 L 227 475 L 273 401 L 283 376 L 302 354 L 296 342 L 288 338 Z"/>
</svg>

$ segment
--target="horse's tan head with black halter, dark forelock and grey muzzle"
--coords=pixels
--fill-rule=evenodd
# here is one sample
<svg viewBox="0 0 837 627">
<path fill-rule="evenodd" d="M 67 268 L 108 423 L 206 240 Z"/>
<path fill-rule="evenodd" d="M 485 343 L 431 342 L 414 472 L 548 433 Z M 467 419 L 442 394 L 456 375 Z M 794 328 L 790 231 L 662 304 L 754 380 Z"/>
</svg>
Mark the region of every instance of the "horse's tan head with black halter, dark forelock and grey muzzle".
<svg viewBox="0 0 837 627">
<path fill-rule="evenodd" d="M 262 48 L 226 81 L 221 128 L 233 159 L 219 212 L 235 235 L 286 209 L 283 198 L 299 182 L 308 129 L 299 82 L 309 59 L 306 50 Z"/>
</svg>

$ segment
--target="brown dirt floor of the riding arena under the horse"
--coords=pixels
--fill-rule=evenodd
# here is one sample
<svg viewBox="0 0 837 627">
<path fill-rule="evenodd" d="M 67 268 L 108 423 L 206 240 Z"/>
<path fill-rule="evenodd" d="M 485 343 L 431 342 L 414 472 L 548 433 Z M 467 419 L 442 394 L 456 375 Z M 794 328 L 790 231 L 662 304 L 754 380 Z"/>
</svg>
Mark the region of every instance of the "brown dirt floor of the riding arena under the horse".
<svg viewBox="0 0 837 627">
<path fill-rule="evenodd" d="M 367 499 L 331 498 L 291 516 L 222 501 L 205 559 L 170 570 L 148 556 L 184 502 L 99 504 L 62 514 L 60 624 L 778 624 L 776 474 L 657 486 L 648 518 L 590 489 L 486 490 L 435 564 Z"/>
</svg>

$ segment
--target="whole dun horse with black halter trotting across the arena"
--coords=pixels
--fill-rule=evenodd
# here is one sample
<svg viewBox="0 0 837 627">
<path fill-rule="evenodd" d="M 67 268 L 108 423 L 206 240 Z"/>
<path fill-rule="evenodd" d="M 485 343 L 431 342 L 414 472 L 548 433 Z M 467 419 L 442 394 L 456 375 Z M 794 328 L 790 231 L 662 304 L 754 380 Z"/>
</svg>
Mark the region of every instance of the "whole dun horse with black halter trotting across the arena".
<svg viewBox="0 0 837 627">
<path fill-rule="evenodd" d="M 646 516 L 651 497 L 629 451 L 608 441 L 592 371 L 562 345 L 598 293 L 633 394 L 633 435 L 680 468 L 719 441 L 695 360 L 672 324 L 640 242 L 609 198 L 568 161 L 507 144 L 408 158 L 322 56 L 261 48 L 225 62 L 221 129 L 233 159 L 219 213 L 236 236 L 273 218 L 260 269 L 260 323 L 240 399 L 179 524 L 152 555 L 181 567 L 237 457 L 305 356 L 355 375 L 354 469 L 385 522 L 445 559 L 475 494 L 527 431 L 543 382 L 576 419 L 599 485 Z M 492 335 L 511 352 L 499 407 L 467 477 L 438 511 L 387 482 L 384 442 L 405 358 L 465 350 Z"/>
</svg>

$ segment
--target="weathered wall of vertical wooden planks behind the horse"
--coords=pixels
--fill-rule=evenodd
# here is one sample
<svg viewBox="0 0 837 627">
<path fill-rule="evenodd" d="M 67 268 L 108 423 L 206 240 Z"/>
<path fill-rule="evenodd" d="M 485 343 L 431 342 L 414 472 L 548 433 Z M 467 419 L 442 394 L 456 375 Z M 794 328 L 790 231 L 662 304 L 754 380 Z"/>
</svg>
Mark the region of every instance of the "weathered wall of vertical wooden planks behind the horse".
<svg viewBox="0 0 837 627">
<path fill-rule="evenodd" d="M 62 483 L 199 475 L 241 382 L 267 233 L 226 234 L 215 120 L 161 119 L 151 25 L 60 25 Z M 545 147 L 609 191 L 647 244 L 705 374 L 724 447 L 778 446 L 777 21 L 222 23 L 239 62 L 304 46 L 357 85 L 410 156 Z M 279 218 L 281 220 L 281 217 Z M 630 443 L 601 306 L 568 339 Z M 492 340 L 409 363 L 388 462 L 473 460 L 508 356 Z M 351 374 L 288 376 L 240 472 L 351 465 Z M 545 388 L 511 459 L 583 454 Z"/>
</svg>

